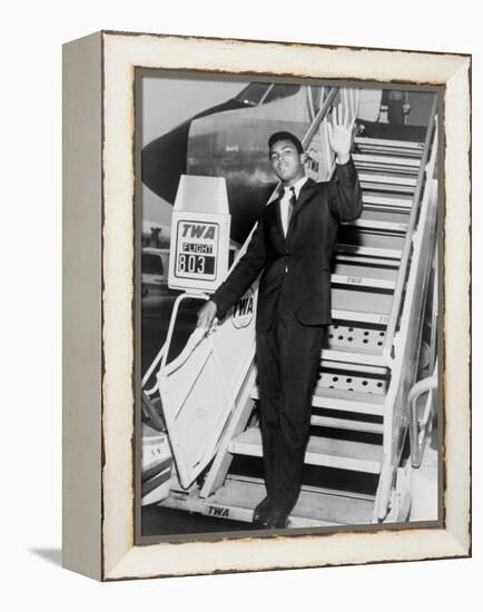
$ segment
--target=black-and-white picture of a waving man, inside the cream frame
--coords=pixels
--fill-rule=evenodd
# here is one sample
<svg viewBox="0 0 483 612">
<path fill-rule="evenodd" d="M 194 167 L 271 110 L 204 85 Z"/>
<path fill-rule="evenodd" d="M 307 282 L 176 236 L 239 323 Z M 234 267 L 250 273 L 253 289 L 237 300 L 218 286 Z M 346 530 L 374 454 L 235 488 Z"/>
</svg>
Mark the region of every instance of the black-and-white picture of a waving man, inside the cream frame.
<svg viewBox="0 0 483 612">
<path fill-rule="evenodd" d="M 442 89 L 135 82 L 138 542 L 441 525 Z"/>
</svg>

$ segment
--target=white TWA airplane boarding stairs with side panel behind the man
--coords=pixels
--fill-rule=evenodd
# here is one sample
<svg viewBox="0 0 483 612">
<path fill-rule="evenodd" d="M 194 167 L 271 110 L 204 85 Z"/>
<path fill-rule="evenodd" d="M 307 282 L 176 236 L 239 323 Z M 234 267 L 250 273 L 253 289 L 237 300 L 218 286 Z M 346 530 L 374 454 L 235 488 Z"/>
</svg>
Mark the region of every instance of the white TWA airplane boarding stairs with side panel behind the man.
<svg viewBox="0 0 483 612">
<path fill-rule="evenodd" d="M 424 141 L 355 145 L 364 213 L 338 235 L 333 324 L 290 527 L 404 521 L 411 504 L 402 453 L 435 249 L 435 103 Z M 177 474 L 160 505 L 249 522 L 265 496 L 254 322 L 241 332 L 237 358 L 229 317 L 208 337 L 197 330 L 174 362 L 162 354 L 157 379 Z"/>
</svg>

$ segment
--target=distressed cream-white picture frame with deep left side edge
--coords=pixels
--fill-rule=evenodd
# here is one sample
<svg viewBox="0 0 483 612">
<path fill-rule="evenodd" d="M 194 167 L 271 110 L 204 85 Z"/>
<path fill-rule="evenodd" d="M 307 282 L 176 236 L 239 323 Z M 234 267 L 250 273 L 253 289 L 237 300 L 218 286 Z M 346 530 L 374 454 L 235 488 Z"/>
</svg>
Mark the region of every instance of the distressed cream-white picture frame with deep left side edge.
<svg viewBox="0 0 483 612">
<path fill-rule="evenodd" d="M 444 526 L 135 545 L 137 67 L 445 88 Z M 65 566 L 114 581 L 467 556 L 471 57 L 106 31 L 66 45 L 63 71 Z"/>
</svg>

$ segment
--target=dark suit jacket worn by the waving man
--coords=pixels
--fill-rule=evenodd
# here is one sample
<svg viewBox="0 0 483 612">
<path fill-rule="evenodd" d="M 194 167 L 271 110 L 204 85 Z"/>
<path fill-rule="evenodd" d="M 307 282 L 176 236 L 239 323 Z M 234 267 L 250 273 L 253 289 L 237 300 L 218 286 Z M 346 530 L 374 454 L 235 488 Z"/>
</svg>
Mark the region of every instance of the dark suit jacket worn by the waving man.
<svg viewBox="0 0 483 612">
<path fill-rule="evenodd" d="M 262 211 L 246 254 L 211 296 L 223 318 L 263 272 L 258 286 L 257 329 L 269 329 L 282 285 L 284 307 L 304 325 L 331 323 L 331 265 L 339 221 L 362 213 L 362 195 L 352 158 L 336 165 L 327 182 L 308 179 L 292 214 L 287 236 L 280 193 Z"/>
</svg>

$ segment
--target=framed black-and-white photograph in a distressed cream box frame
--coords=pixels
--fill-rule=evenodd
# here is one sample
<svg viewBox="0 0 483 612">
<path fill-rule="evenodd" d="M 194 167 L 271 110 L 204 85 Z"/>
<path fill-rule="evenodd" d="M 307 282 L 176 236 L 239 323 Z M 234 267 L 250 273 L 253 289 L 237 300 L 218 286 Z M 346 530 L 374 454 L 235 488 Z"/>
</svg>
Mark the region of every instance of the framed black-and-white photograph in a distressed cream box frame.
<svg viewBox="0 0 483 612">
<path fill-rule="evenodd" d="M 63 51 L 63 563 L 469 556 L 471 57 Z"/>
</svg>

